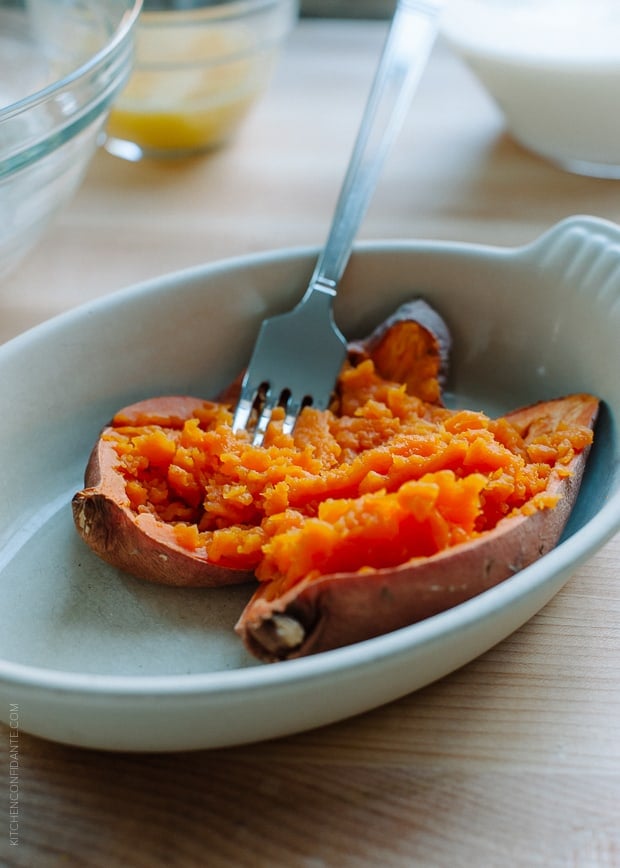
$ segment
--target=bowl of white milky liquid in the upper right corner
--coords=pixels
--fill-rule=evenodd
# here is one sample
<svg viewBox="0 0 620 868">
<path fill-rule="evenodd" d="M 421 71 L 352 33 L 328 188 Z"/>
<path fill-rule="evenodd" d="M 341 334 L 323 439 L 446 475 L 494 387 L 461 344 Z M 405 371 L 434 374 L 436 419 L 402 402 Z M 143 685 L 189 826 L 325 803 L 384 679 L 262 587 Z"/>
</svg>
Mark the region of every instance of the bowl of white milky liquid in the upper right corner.
<svg viewBox="0 0 620 868">
<path fill-rule="evenodd" d="M 522 145 L 569 171 L 620 178 L 617 0 L 452 0 L 444 33 Z"/>
</svg>

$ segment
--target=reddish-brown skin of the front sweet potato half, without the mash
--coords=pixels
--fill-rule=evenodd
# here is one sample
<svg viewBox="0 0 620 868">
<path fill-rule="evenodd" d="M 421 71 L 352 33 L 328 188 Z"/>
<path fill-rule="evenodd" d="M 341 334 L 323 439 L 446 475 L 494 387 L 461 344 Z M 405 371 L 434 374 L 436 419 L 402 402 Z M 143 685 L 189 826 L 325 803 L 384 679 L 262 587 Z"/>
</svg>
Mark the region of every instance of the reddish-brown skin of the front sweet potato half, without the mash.
<svg viewBox="0 0 620 868">
<path fill-rule="evenodd" d="M 592 427 L 598 400 L 574 395 L 507 414 L 526 428 L 541 414 Z M 268 601 L 264 587 L 246 606 L 235 629 L 248 650 L 266 662 L 292 659 L 349 645 L 408 626 L 497 585 L 557 544 L 573 508 L 587 450 L 554 470 L 548 492 L 560 494 L 553 509 L 501 520 L 470 542 L 396 568 L 338 573 L 304 581 Z"/>
</svg>

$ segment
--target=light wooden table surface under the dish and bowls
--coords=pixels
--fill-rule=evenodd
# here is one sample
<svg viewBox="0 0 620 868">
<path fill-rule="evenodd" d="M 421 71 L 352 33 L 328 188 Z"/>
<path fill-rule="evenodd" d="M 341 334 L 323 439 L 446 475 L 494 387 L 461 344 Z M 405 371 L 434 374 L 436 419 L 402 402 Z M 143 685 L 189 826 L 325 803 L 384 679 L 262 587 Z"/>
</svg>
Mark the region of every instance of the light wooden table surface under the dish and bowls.
<svg viewBox="0 0 620 868">
<path fill-rule="evenodd" d="M 225 150 L 139 164 L 98 153 L 0 283 L 0 340 L 162 272 L 321 243 L 384 30 L 303 21 Z M 361 237 L 518 245 L 577 213 L 620 221 L 620 182 L 518 147 L 440 45 Z M 483 657 L 322 730 L 170 755 L 20 733 L 19 843 L 5 785 L 0 865 L 620 866 L 619 573 L 616 537 Z"/>
</svg>

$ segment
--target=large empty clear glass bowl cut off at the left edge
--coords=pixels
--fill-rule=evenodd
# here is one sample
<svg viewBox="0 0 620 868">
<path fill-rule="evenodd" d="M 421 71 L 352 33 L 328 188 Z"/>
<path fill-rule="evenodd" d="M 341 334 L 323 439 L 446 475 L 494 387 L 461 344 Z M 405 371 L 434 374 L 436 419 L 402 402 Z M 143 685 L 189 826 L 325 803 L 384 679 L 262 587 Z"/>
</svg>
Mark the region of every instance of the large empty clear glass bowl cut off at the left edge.
<svg viewBox="0 0 620 868">
<path fill-rule="evenodd" d="M 72 197 L 132 65 L 141 0 L 0 0 L 0 275 Z"/>
</svg>

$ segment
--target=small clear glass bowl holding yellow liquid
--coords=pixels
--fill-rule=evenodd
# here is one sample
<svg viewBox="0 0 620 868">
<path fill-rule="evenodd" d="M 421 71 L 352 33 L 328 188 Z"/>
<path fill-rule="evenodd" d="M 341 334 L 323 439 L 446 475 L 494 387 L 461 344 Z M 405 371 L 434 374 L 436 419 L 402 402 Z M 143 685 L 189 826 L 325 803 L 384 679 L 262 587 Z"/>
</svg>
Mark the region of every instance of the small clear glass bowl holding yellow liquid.
<svg viewBox="0 0 620 868">
<path fill-rule="evenodd" d="M 145 0 L 106 147 L 129 160 L 217 148 L 271 78 L 298 0 Z"/>
</svg>

